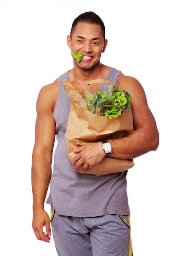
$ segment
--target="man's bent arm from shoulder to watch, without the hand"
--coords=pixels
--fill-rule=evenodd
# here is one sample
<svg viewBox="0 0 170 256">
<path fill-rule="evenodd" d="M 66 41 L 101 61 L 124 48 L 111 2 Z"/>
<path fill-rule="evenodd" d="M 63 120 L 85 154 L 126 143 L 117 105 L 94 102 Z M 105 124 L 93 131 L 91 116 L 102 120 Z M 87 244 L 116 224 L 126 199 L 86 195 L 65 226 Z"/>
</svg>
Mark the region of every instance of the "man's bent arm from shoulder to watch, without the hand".
<svg viewBox="0 0 170 256">
<path fill-rule="evenodd" d="M 156 150 L 159 144 L 159 133 L 155 118 L 150 111 L 143 87 L 136 79 L 121 75 L 120 90 L 131 95 L 131 109 L 134 119 L 134 132 L 127 137 L 111 140 L 112 157 L 130 159 Z"/>
</svg>

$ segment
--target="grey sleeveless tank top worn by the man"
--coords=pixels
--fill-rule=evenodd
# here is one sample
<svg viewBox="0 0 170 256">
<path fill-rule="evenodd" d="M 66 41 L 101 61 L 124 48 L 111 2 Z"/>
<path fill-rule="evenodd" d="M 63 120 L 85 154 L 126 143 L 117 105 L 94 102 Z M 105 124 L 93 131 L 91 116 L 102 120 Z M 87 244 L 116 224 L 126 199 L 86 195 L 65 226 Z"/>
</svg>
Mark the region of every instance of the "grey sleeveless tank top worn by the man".
<svg viewBox="0 0 170 256">
<path fill-rule="evenodd" d="M 107 80 L 114 82 L 119 70 L 111 67 Z M 53 205 L 57 214 L 73 217 L 95 217 L 107 214 L 130 214 L 127 197 L 128 171 L 109 175 L 90 175 L 73 171 L 68 158 L 65 131 L 70 112 L 70 99 L 64 90 L 63 81 L 68 81 L 68 72 L 60 76 L 57 103 L 54 109 L 57 147 L 46 203 Z M 107 84 L 103 85 L 107 90 Z"/>
</svg>

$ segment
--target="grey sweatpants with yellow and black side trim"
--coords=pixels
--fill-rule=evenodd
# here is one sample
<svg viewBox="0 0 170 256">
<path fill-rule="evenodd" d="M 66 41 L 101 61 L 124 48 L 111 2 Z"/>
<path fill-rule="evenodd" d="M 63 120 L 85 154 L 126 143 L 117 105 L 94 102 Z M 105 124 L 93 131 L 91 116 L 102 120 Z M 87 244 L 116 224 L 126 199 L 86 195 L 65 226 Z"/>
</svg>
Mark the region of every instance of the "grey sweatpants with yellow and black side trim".
<svg viewBox="0 0 170 256">
<path fill-rule="evenodd" d="M 51 227 L 58 256 L 132 256 L 130 216 L 57 215 Z"/>
</svg>

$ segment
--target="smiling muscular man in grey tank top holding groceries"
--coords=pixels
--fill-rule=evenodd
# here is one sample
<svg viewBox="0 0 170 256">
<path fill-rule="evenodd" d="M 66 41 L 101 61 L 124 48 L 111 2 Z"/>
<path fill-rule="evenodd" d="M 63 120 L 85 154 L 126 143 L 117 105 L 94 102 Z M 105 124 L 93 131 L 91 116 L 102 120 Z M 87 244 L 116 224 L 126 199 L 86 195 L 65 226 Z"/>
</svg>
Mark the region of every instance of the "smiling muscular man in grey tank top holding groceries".
<svg viewBox="0 0 170 256">
<path fill-rule="evenodd" d="M 159 144 L 157 125 L 139 81 L 100 63 L 107 43 L 99 16 L 93 12 L 78 16 L 67 44 L 72 57 L 75 52 L 81 52 L 84 58 L 81 61 L 73 58 L 73 69 L 44 86 L 38 95 L 32 159 L 33 230 L 39 240 L 50 241 L 50 219 L 44 211 L 44 201 L 51 181 L 47 203 L 51 204 L 51 226 L 58 256 L 132 256 L 127 171 L 102 176 L 77 172 L 79 166 L 90 171 L 102 162 L 105 152 L 102 142 L 87 143 L 75 150 L 73 164 L 69 160 L 65 131 L 70 100 L 62 82 L 71 81 L 85 92 L 88 81 L 117 79 L 119 90 L 129 92 L 134 132 L 108 140 L 111 157 L 133 159 L 156 150 Z M 51 177 L 55 134 L 57 148 Z M 46 234 L 42 231 L 44 225 Z"/>
</svg>

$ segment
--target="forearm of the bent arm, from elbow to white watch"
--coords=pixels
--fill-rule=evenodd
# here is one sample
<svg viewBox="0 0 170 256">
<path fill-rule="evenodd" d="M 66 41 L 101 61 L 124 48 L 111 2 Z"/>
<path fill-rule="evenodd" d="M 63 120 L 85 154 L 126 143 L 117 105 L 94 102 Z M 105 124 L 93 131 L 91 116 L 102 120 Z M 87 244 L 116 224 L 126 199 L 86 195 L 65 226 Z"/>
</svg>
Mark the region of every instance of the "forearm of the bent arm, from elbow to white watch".
<svg viewBox="0 0 170 256">
<path fill-rule="evenodd" d="M 108 141 L 113 149 L 110 156 L 120 159 L 133 159 L 156 150 L 159 144 L 159 134 L 157 129 L 147 130 L 141 127 L 126 137 L 108 139 Z"/>
</svg>

